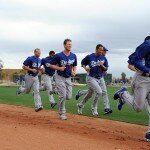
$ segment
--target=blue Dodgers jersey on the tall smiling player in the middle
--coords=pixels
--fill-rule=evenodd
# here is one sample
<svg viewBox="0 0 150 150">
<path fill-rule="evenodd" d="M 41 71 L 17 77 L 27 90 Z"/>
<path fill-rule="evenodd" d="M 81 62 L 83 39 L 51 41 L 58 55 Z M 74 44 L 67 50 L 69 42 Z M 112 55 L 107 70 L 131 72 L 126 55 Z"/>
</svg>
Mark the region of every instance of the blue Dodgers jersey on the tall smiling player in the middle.
<svg viewBox="0 0 150 150">
<path fill-rule="evenodd" d="M 61 52 L 55 55 L 54 59 L 52 60 L 52 65 L 66 67 L 64 71 L 57 71 L 57 73 L 60 76 L 69 78 L 72 73 L 72 68 L 77 66 L 77 57 L 73 53 L 70 53 L 69 56 L 66 56 L 64 52 Z"/>
</svg>

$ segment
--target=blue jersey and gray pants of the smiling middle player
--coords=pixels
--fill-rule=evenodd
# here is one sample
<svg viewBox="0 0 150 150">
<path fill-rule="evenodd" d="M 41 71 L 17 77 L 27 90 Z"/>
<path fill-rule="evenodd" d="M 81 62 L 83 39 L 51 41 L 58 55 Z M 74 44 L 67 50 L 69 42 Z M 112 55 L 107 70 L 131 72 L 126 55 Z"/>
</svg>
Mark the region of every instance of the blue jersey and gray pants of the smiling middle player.
<svg viewBox="0 0 150 150">
<path fill-rule="evenodd" d="M 55 55 L 51 64 L 65 67 L 64 71 L 57 71 L 55 76 L 59 95 L 59 114 L 62 116 L 66 112 L 65 101 L 69 100 L 72 96 L 71 74 L 73 67 L 77 66 L 77 57 L 72 52 L 68 56 L 64 52 L 60 52 Z"/>
</svg>

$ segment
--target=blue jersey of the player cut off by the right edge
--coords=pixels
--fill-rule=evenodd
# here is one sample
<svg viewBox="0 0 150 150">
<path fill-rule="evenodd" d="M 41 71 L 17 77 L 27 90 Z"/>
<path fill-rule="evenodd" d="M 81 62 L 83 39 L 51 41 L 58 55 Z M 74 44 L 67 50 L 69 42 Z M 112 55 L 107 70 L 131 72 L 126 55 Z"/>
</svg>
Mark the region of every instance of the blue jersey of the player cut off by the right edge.
<svg viewBox="0 0 150 150">
<path fill-rule="evenodd" d="M 144 73 L 150 72 L 150 40 L 146 40 L 136 48 L 134 61 L 137 69 Z"/>
</svg>

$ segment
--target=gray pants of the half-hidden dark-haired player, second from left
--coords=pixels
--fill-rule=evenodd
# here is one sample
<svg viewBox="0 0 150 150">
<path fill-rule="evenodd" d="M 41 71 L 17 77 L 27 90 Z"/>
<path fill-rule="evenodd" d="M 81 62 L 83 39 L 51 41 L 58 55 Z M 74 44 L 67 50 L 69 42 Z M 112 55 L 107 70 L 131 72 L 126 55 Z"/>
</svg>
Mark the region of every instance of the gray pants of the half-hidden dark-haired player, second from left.
<svg viewBox="0 0 150 150">
<path fill-rule="evenodd" d="M 40 91 L 46 91 L 47 90 L 47 94 L 48 94 L 50 104 L 55 103 L 54 96 L 52 94 L 51 95 L 49 94 L 50 91 L 53 90 L 52 79 L 53 79 L 53 77 L 44 74 L 42 76 L 42 80 L 44 81 L 44 85 L 42 87 L 40 87 Z"/>
</svg>

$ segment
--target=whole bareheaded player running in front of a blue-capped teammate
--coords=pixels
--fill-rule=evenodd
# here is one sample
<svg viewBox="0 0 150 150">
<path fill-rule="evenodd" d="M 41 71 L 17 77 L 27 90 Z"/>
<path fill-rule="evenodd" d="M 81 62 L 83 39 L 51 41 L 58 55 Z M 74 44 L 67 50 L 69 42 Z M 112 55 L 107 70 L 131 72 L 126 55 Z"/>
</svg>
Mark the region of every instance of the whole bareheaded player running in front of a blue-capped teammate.
<svg viewBox="0 0 150 150">
<path fill-rule="evenodd" d="M 102 87 L 104 84 L 103 72 L 107 71 L 108 62 L 106 57 L 103 55 L 104 47 L 101 44 L 96 46 L 95 53 L 87 55 L 81 62 L 82 67 L 87 72 L 86 82 L 89 86 L 88 93 L 85 95 L 84 99 L 77 104 L 78 114 L 82 114 L 82 109 L 88 99 L 91 98 L 93 92 L 95 94 L 93 104 L 92 104 L 92 114 L 93 116 L 98 116 L 97 105 L 98 99 L 102 95 Z M 106 86 L 105 86 L 106 88 Z M 104 89 L 104 87 L 103 87 Z M 105 89 L 106 92 L 106 89 Z"/>
</svg>

